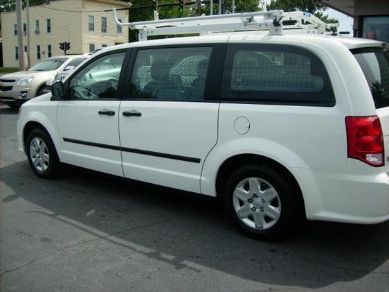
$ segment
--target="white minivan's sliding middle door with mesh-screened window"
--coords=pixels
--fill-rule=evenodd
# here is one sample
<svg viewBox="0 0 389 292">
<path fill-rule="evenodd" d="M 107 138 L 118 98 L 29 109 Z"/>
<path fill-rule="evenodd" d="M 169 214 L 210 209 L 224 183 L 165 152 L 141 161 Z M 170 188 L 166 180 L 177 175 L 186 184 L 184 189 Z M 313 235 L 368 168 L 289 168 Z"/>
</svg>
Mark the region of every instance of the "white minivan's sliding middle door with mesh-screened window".
<svg viewBox="0 0 389 292">
<path fill-rule="evenodd" d="M 203 162 L 217 142 L 223 50 L 205 44 L 133 51 L 129 98 L 119 111 L 125 177 L 200 192 Z"/>
</svg>

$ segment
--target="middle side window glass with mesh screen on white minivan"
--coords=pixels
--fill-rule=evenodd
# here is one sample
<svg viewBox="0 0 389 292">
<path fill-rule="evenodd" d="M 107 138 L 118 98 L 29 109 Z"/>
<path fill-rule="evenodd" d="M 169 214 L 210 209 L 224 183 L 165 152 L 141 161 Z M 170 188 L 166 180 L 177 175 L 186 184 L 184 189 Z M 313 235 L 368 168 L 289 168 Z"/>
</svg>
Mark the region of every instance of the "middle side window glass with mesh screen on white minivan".
<svg viewBox="0 0 389 292">
<path fill-rule="evenodd" d="M 132 98 L 203 99 L 211 48 L 168 48 L 138 52 Z"/>
</svg>

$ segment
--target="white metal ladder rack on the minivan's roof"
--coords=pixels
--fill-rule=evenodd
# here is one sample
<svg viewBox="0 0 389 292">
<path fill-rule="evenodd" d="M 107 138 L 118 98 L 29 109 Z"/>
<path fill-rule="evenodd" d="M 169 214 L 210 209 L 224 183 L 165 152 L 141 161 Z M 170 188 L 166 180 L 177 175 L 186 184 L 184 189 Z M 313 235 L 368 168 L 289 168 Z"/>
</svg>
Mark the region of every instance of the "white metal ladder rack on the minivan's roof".
<svg viewBox="0 0 389 292">
<path fill-rule="evenodd" d="M 311 13 L 301 11 L 273 10 L 122 23 L 118 21 L 116 9 L 112 10 L 118 26 L 139 30 L 138 40 L 140 41 L 147 40 L 147 37 L 152 35 L 210 35 L 242 31 L 263 31 L 269 35 L 289 33 L 324 35 L 334 34 L 338 28 L 338 24 L 326 24 Z M 290 24 L 291 22 L 293 24 Z"/>
</svg>

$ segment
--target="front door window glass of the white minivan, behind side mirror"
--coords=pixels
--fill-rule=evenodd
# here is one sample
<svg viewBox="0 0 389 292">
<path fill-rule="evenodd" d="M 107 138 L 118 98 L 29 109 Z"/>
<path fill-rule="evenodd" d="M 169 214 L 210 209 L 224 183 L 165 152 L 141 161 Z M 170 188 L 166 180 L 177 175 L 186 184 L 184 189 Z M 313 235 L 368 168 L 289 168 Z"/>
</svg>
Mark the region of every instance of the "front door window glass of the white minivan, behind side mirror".
<svg viewBox="0 0 389 292">
<path fill-rule="evenodd" d="M 120 71 L 125 52 L 105 55 L 90 62 L 69 83 L 73 99 L 117 98 Z"/>
</svg>

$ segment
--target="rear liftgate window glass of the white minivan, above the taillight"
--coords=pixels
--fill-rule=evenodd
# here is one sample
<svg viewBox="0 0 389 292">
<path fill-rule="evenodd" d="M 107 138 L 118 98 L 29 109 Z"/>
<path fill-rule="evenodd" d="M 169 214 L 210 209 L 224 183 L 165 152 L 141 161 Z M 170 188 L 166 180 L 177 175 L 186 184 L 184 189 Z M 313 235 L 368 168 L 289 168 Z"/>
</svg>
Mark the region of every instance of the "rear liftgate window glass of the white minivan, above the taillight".
<svg viewBox="0 0 389 292">
<path fill-rule="evenodd" d="M 389 58 L 382 49 L 354 49 L 354 57 L 368 81 L 376 108 L 389 106 Z"/>
</svg>

